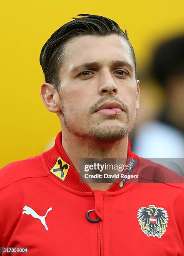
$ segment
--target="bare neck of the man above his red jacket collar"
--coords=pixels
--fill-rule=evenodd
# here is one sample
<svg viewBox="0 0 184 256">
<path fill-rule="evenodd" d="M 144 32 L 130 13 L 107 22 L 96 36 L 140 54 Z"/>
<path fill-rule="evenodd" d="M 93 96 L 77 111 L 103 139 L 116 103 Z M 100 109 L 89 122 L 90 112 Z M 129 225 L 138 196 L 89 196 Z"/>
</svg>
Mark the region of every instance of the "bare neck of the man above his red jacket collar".
<svg viewBox="0 0 184 256">
<path fill-rule="evenodd" d="M 128 136 L 114 143 L 97 143 L 92 139 L 82 139 L 62 129 L 62 147 L 73 166 L 79 172 L 81 158 L 122 158 L 127 159 Z M 125 161 L 126 162 L 126 161 Z M 90 183 L 94 190 L 107 190 L 112 183 Z"/>
</svg>

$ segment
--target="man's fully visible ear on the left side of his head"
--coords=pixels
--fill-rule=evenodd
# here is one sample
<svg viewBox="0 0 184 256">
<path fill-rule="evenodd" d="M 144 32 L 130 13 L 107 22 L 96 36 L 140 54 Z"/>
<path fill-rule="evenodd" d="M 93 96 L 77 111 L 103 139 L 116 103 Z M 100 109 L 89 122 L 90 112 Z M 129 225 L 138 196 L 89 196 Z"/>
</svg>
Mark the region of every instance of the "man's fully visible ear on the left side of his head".
<svg viewBox="0 0 184 256">
<path fill-rule="evenodd" d="M 40 96 L 45 104 L 45 107 L 50 111 L 57 113 L 59 112 L 60 106 L 59 102 L 59 95 L 58 92 L 55 90 L 53 84 L 43 83 L 40 90 Z"/>
</svg>

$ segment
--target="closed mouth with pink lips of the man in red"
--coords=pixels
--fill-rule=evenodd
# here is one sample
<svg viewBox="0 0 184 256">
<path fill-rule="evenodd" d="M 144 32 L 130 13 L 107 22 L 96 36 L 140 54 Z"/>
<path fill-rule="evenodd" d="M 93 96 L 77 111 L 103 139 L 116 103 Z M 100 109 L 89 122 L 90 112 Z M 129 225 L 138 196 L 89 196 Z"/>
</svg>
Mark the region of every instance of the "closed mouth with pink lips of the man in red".
<svg viewBox="0 0 184 256">
<path fill-rule="evenodd" d="M 106 102 L 95 113 L 101 115 L 119 115 L 123 113 L 123 108 L 118 102 Z"/>
</svg>

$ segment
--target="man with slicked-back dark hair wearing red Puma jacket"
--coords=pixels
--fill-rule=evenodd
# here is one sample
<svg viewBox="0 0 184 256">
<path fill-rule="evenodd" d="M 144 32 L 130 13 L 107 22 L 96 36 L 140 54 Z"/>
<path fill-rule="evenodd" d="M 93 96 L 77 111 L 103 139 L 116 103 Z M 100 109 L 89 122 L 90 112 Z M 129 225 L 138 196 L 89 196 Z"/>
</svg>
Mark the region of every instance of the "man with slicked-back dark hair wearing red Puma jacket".
<svg viewBox="0 0 184 256">
<path fill-rule="evenodd" d="M 80 16 L 42 48 L 41 97 L 62 133 L 49 151 L 1 170 L 1 246 L 39 256 L 182 256 L 181 182 L 125 178 L 147 165 L 128 141 L 140 92 L 127 33 L 108 18 Z M 80 159 L 122 159 L 129 168 L 113 184 L 89 185 L 81 182 Z"/>
</svg>

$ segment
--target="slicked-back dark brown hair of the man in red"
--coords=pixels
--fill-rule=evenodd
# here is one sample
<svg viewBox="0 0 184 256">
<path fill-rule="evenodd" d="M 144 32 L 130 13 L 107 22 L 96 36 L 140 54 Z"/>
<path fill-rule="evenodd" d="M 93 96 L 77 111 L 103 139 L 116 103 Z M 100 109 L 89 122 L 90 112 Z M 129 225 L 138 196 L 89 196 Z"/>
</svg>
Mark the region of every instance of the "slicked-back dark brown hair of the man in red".
<svg viewBox="0 0 184 256">
<path fill-rule="evenodd" d="M 73 18 L 72 21 L 58 28 L 41 50 L 40 65 L 45 74 L 45 82 L 53 84 L 55 89 L 59 91 L 59 70 L 64 61 L 64 46 L 71 38 L 86 35 L 108 36 L 116 34 L 122 36 L 129 44 L 135 66 L 135 75 L 137 74 L 136 57 L 126 29 L 123 32 L 115 21 L 103 16 L 91 14 L 78 14 L 77 16 L 84 16 L 84 18 Z"/>
</svg>

